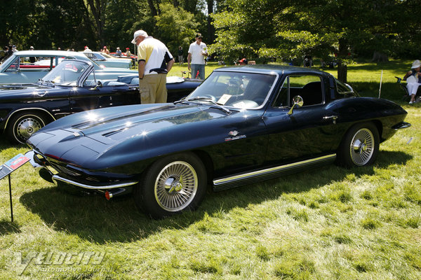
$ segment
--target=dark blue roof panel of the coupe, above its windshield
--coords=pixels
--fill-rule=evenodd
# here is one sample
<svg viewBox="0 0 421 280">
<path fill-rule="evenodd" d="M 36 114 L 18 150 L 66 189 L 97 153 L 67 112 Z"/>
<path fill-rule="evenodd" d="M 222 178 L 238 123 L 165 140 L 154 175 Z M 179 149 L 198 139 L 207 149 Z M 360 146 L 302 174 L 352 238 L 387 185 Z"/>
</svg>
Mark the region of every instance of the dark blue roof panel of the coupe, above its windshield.
<svg viewBox="0 0 421 280">
<path fill-rule="evenodd" d="M 307 67 L 286 66 L 286 65 L 272 65 L 272 64 L 252 64 L 243 66 L 230 66 L 215 69 L 215 71 L 235 71 L 235 72 L 250 72 L 250 73 L 276 73 L 279 76 L 291 73 L 314 73 L 318 75 L 331 76 L 330 73 L 312 69 Z"/>
</svg>

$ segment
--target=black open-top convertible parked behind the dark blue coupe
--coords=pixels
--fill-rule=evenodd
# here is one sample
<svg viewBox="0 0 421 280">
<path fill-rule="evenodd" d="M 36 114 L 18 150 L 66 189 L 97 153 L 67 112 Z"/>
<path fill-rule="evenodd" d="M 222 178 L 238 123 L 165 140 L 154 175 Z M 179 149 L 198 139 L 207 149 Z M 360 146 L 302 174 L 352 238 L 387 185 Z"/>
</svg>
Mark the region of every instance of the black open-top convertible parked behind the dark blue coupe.
<svg viewBox="0 0 421 280">
<path fill-rule="evenodd" d="M 94 64 L 64 60 L 38 83 L 0 86 L 0 130 L 25 141 L 63 116 L 91 109 L 140 104 L 138 75 L 95 71 Z M 168 102 L 185 97 L 201 80 L 168 77 Z"/>
</svg>

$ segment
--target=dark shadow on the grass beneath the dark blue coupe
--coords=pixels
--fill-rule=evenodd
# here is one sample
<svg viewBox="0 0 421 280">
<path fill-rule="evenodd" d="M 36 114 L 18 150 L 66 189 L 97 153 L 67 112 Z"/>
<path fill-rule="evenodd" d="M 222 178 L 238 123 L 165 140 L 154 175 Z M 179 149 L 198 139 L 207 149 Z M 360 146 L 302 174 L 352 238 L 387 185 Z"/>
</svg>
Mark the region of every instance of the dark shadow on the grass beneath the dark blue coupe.
<svg viewBox="0 0 421 280">
<path fill-rule="evenodd" d="M 382 151 L 377 167 L 404 165 L 410 158 L 406 153 Z M 206 213 L 210 216 L 220 211 L 227 213 L 236 207 L 276 200 L 285 193 L 306 192 L 333 181 L 342 181 L 348 174 L 373 174 L 373 167 L 344 169 L 330 165 L 219 193 L 208 192 L 197 211 L 160 221 L 154 221 L 139 212 L 130 196 L 117 197 L 108 202 L 100 195 L 76 197 L 62 193 L 57 188 L 43 188 L 25 193 L 20 197 L 20 202 L 54 230 L 102 244 L 109 241 L 135 241 L 166 229 L 185 229 L 201 221 Z"/>
</svg>

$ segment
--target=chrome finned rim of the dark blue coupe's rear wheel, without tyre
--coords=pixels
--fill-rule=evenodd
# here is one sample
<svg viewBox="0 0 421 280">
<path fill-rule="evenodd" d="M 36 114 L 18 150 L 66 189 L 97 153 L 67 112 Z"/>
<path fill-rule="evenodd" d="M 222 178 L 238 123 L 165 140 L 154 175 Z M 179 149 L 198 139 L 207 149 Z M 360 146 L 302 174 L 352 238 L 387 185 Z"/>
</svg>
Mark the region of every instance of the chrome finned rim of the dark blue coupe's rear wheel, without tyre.
<svg viewBox="0 0 421 280">
<path fill-rule="evenodd" d="M 374 153 L 374 137 L 370 130 L 363 128 L 354 134 L 351 141 L 351 159 L 355 165 L 363 166 Z"/>
</svg>

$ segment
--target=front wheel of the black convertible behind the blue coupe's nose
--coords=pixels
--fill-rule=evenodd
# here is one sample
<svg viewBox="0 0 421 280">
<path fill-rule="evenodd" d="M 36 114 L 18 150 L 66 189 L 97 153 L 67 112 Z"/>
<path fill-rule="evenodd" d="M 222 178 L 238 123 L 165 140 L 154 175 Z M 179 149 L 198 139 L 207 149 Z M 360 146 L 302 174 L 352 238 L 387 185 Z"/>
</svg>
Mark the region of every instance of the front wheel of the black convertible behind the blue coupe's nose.
<svg viewBox="0 0 421 280">
<path fill-rule="evenodd" d="M 32 134 L 40 130 L 45 125 L 46 120 L 41 113 L 20 112 L 16 113 L 8 121 L 6 133 L 8 134 L 9 140 L 25 144 Z"/>
</svg>

